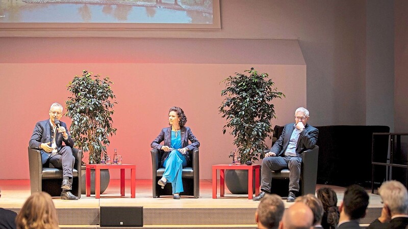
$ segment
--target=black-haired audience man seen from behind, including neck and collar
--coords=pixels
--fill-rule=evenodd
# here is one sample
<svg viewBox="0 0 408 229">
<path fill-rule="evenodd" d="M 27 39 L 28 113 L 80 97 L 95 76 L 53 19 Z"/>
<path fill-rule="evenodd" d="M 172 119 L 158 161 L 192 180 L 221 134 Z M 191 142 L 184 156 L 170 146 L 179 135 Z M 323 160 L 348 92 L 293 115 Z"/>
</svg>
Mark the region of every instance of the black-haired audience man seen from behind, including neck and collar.
<svg viewBox="0 0 408 229">
<path fill-rule="evenodd" d="M 366 215 L 369 196 L 363 187 L 351 185 L 344 192 L 340 205 L 338 229 L 360 229 L 360 218 Z"/>
</svg>

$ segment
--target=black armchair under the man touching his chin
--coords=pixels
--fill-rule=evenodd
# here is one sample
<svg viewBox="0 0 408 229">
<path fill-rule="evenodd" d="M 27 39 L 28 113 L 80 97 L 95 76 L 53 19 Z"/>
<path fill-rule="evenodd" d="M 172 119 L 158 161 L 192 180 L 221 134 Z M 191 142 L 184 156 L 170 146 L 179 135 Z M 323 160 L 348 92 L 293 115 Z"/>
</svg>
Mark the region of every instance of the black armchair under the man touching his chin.
<svg viewBox="0 0 408 229">
<path fill-rule="evenodd" d="M 299 193 L 301 195 L 305 194 L 315 194 L 316 192 L 316 181 L 317 181 L 317 162 L 319 156 L 319 147 L 315 145 L 313 149 L 305 150 L 302 153 L 302 164 L 300 171 Z M 280 171 L 272 171 L 272 180 L 280 179 L 285 180 L 286 183 L 289 182 L 289 169 L 282 169 Z M 272 181 L 272 192 L 280 194 L 281 196 L 286 196 L 288 194 L 288 185 L 284 188 L 283 186 L 275 185 Z M 282 189 L 281 189 L 282 188 Z M 286 194 L 283 194 L 286 193 Z"/>
</svg>

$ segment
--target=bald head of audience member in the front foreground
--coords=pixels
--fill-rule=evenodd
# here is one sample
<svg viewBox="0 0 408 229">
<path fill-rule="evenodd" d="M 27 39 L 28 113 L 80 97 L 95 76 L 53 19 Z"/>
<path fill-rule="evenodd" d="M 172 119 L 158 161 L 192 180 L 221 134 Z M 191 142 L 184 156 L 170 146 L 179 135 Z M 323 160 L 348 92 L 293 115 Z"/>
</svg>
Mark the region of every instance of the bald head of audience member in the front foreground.
<svg viewBox="0 0 408 229">
<path fill-rule="evenodd" d="M 296 202 L 285 211 L 279 229 L 310 229 L 312 225 L 312 210 L 304 203 Z"/>
</svg>

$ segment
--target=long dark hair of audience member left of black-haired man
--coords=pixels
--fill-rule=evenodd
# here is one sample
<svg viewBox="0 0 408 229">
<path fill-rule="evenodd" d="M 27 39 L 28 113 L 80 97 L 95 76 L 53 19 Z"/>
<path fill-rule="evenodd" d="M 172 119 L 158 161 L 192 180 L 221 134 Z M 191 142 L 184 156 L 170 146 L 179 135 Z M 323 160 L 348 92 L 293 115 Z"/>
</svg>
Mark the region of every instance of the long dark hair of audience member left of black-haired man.
<svg viewBox="0 0 408 229">
<path fill-rule="evenodd" d="M 335 229 L 339 223 L 339 208 L 337 207 L 336 192 L 328 187 L 319 188 L 316 191 L 317 198 L 322 202 L 324 214 L 322 226 L 324 229 Z"/>
</svg>

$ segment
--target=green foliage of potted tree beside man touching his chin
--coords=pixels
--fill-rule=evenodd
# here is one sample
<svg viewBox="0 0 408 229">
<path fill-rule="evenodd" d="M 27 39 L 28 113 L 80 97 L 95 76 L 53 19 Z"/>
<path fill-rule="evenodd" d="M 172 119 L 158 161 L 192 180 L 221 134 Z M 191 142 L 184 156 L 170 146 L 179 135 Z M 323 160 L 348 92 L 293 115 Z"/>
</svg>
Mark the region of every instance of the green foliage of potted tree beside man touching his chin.
<svg viewBox="0 0 408 229">
<path fill-rule="evenodd" d="M 259 74 L 253 68 L 245 72 L 249 76 L 235 73 L 235 76 L 223 80 L 226 88 L 221 91 L 224 100 L 219 107 L 227 122 L 223 133 L 227 128 L 231 129 L 241 163 L 263 158 L 263 151 L 268 148 L 265 138 L 270 138 L 273 131 L 271 120 L 276 119 L 274 105 L 270 102 L 285 97 L 282 92 L 277 92 L 267 73 Z"/>
</svg>

